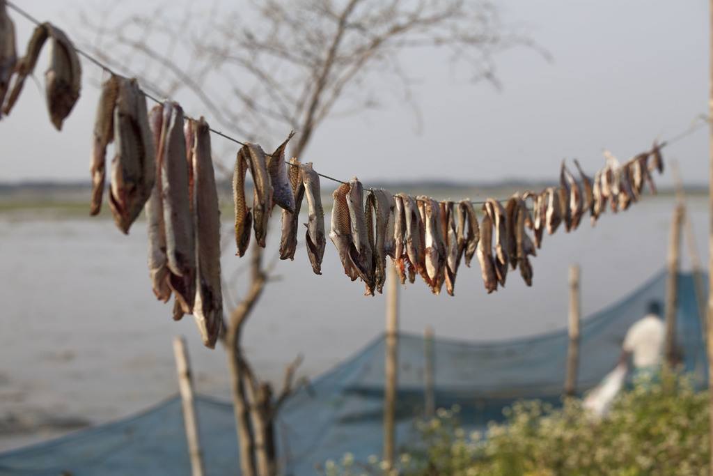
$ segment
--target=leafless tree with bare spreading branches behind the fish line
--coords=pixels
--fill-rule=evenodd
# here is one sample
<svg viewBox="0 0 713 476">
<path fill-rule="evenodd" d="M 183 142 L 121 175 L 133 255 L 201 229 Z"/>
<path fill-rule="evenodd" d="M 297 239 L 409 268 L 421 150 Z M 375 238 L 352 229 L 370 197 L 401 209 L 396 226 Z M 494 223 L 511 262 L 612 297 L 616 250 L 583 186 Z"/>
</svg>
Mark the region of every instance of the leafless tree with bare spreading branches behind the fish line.
<svg viewBox="0 0 713 476">
<path fill-rule="evenodd" d="M 194 101 L 214 126 L 242 139 L 276 144 L 296 131 L 297 157 L 327 118 L 375 108 L 394 92 L 418 117 L 404 51 L 435 49 L 474 81 L 497 84 L 496 54 L 514 46 L 537 49 L 504 26 L 488 0 L 167 2 L 127 16 L 117 14 L 120 2 L 108 4 L 81 17 L 85 49 L 116 71 L 137 75 L 149 91 L 181 97 L 184 105 Z M 262 250 L 253 248 L 250 287 L 230 312 L 224 338 L 243 476 L 277 473 L 275 414 L 299 364 L 287 368 L 275 398 L 242 351 L 242 328 L 269 281 L 268 268 Z"/>
</svg>

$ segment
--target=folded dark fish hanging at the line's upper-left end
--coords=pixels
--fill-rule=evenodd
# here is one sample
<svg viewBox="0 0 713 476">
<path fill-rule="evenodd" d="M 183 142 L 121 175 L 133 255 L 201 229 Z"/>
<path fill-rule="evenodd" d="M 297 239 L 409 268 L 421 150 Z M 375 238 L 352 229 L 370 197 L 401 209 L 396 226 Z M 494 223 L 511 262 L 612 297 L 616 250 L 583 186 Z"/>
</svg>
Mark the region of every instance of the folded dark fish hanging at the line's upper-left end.
<svg viewBox="0 0 713 476">
<path fill-rule="evenodd" d="M 12 111 L 47 40 L 50 63 L 45 71 L 45 98 L 50 120 L 61 131 L 81 89 L 82 69 L 76 49 L 61 29 L 43 23 L 34 30 L 25 55 L 18 59 L 15 26 L 7 14 L 5 1 L 0 0 L 0 116 Z"/>
</svg>

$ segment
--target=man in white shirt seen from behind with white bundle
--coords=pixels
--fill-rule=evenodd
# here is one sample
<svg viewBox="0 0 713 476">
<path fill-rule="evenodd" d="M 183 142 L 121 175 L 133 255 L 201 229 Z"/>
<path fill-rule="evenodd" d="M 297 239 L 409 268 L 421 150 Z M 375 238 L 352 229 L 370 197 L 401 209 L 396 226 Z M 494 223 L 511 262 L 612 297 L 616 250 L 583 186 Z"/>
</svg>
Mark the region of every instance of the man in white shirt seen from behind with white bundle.
<svg viewBox="0 0 713 476">
<path fill-rule="evenodd" d="M 595 415 L 605 415 L 624 385 L 630 361 L 634 364 L 634 375 L 656 373 L 663 358 L 665 339 L 666 326 L 661 318 L 661 303 L 650 301 L 646 315 L 627 330 L 619 363 L 602 383 L 590 391 L 584 400 L 584 407 Z"/>
</svg>

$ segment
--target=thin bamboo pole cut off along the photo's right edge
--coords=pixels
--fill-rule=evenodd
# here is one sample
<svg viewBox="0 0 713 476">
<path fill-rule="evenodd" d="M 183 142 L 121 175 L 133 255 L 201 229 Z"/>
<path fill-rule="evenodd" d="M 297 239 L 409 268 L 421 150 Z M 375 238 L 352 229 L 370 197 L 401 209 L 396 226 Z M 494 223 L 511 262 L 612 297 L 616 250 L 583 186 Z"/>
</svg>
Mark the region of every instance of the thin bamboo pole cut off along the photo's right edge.
<svg viewBox="0 0 713 476">
<path fill-rule="evenodd" d="M 713 116 L 713 0 L 709 0 L 708 6 L 709 15 L 709 98 L 708 98 L 708 115 Z M 711 460 L 709 469 L 713 470 L 713 279 L 710 277 L 710 272 L 713 270 L 713 121 L 709 121 L 709 166 L 708 166 L 708 219 L 709 219 L 709 235 L 708 235 L 708 313 L 707 313 L 707 335 L 708 335 L 708 394 L 709 402 L 709 445 Z"/>
</svg>

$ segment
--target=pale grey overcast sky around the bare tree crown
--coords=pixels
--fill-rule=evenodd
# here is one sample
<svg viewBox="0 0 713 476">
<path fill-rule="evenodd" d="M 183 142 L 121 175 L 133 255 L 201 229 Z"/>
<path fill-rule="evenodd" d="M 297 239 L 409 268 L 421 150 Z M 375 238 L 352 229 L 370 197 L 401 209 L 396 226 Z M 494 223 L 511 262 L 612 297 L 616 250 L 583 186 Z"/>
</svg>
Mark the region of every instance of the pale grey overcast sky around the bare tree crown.
<svg viewBox="0 0 713 476">
<path fill-rule="evenodd" d="M 421 133 L 411 111 L 392 101 L 384 110 L 325 123 L 307 160 L 322 173 L 356 175 L 367 184 L 375 178 L 555 181 L 564 157 L 580 158 L 593 172 L 602 163 L 602 148 L 627 158 L 654 138 L 683 131 L 707 112 L 706 1 L 501 3 L 503 19 L 523 26 L 550 51 L 552 62 L 525 50 L 498 56 L 503 88 L 497 91 L 488 83 L 454 78 L 436 54 L 405 58 L 419 79 L 415 91 L 424 118 Z M 68 24 L 78 4 L 21 2 L 58 26 Z M 129 0 L 120 8 L 146 4 L 153 3 Z M 11 16 L 24 51 L 31 26 L 13 12 Z M 67 33 L 72 36 L 71 29 Z M 86 62 L 83 66 L 86 71 L 95 68 Z M 42 84 L 45 69 L 42 60 L 36 69 Z M 91 74 L 96 77 L 96 71 Z M 0 121 L 5 147 L 0 181 L 88 180 L 96 88 L 84 84 L 61 133 L 48 121 L 42 89 L 28 81 L 11 116 Z M 201 111 L 190 112 L 198 116 Z M 706 181 L 704 130 L 666 155 L 679 159 L 687 183 Z M 669 183 L 670 174 L 661 181 Z"/>
</svg>

